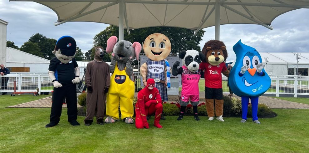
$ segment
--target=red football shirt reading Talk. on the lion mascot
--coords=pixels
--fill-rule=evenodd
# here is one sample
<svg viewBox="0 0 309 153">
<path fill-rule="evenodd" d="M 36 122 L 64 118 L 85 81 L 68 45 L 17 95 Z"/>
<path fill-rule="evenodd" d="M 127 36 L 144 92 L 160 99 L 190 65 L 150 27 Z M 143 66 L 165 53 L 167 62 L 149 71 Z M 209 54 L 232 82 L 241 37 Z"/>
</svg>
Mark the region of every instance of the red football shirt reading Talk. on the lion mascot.
<svg viewBox="0 0 309 153">
<path fill-rule="evenodd" d="M 222 88 L 222 71 L 226 71 L 225 63 L 222 62 L 218 66 L 210 65 L 209 63 L 202 62 L 199 64 L 200 69 L 204 70 L 205 86 L 208 88 Z"/>
</svg>

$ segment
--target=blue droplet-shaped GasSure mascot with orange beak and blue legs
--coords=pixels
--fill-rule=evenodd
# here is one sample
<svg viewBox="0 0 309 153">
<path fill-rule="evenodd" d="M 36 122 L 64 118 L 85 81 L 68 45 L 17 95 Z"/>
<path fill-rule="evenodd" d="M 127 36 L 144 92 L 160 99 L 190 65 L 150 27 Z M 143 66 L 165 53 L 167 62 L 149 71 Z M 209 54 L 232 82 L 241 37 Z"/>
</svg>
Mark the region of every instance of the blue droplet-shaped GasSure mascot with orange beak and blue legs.
<svg viewBox="0 0 309 153">
<path fill-rule="evenodd" d="M 271 85 L 271 79 L 267 75 L 262 63 L 262 58 L 253 47 L 243 44 L 240 40 L 233 46 L 236 54 L 236 62 L 231 70 L 228 84 L 232 91 L 241 97 L 242 120 L 247 121 L 248 103 L 251 100 L 252 120 L 261 124 L 257 118 L 258 97 L 266 92 Z"/>
</svg>

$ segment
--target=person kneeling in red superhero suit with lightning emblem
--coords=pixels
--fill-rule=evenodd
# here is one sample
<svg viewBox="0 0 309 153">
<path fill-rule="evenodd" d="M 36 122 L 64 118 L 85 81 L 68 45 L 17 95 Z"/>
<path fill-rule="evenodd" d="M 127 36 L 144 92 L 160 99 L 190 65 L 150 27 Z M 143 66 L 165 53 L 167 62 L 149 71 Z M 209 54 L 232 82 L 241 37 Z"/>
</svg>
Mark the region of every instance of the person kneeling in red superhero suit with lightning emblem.
<svg viewBox="0 0 309 153">
<path fill-rule="evenodd" d="M 137 102 L 135 105 L 135 126 L 138 129 L 149 128 L 147 115 L 154 114 L 154 126 L 162 128 L 160 118 L 163 110 L 161 96 L 159 90 L 154 87 L 154 79 L 147 80 L 147 86 L 137 94 Z"/>
</svg>

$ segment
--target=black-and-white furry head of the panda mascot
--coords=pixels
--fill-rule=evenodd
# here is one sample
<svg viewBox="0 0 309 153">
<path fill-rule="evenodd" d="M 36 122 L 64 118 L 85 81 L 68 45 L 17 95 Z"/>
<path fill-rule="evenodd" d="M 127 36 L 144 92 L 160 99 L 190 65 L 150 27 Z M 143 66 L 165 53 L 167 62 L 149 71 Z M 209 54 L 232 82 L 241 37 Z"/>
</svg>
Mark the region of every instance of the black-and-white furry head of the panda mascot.
<svg viewBox="0 0 309 153">
<path fill-rule="evenodd" d="M 182 59 L 184 66 L 191 72 L 196 72 L 199 69 L 199 63 L 205 58 L 202 52 L 196 50 L 181 51 L 179 57 Z"/>
</svg>

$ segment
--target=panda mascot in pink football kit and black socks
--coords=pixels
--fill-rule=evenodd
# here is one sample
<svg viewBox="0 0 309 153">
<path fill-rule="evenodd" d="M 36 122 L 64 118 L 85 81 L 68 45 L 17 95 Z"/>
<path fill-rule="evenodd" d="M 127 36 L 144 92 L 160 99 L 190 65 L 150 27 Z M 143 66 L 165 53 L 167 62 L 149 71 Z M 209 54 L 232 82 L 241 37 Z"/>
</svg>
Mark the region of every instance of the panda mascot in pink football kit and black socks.
<svg viewBox="0 0 309 153">
<path fill-rule="evenodd" d="M 199 68 L 199 64 L 204 60 L 205 56 L 202 52 L 196 50 L 188 50 L 179 52 L 179 58 L 182 59 L 184 65 L 180 68 L 180 62 L 176 61 L 172 68 L 172 74 L 177 76 L 181 74 L 182 89 L 180 99 L 180 114 L 177 120 L 182 120 L 184 111 L 191 100 L 193 106 L 194 119 L 199 121 L 198 104 L 199 104 L 199 79 L 203 73 Z"/>
</svg>

